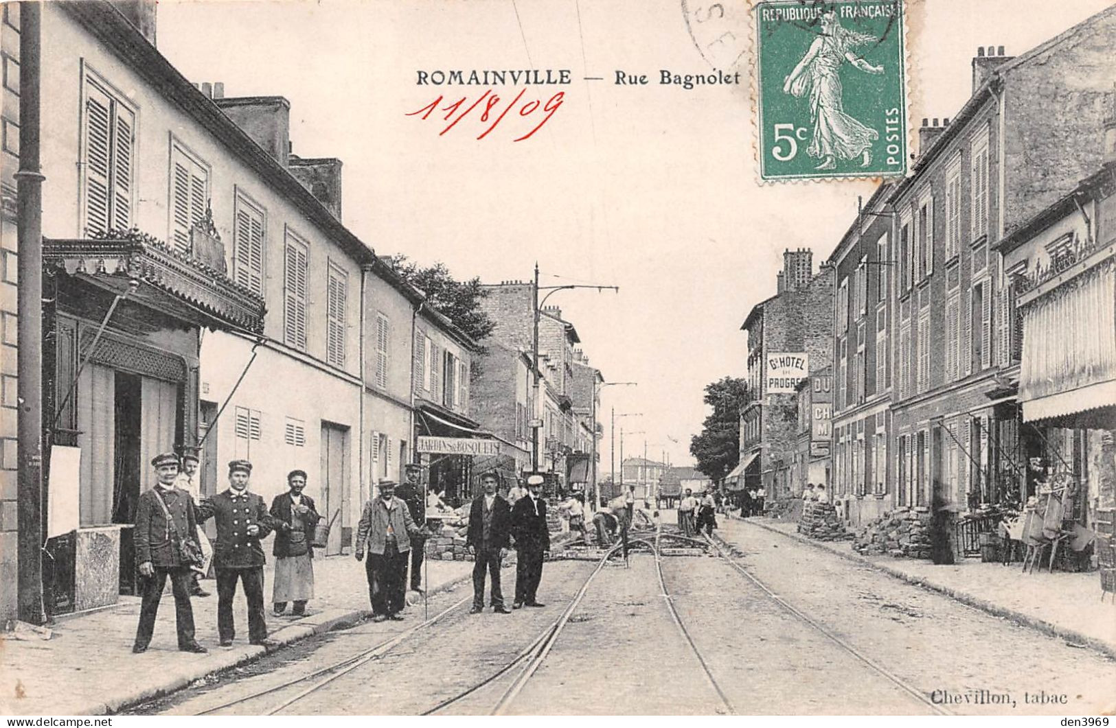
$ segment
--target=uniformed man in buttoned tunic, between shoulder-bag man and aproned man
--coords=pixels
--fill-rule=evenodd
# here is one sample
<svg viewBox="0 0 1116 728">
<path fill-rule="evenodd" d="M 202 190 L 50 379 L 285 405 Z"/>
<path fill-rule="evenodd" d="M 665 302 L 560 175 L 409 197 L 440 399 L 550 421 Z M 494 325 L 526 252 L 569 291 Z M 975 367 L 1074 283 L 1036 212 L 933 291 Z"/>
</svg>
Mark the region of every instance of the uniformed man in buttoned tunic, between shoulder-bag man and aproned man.
<svg viewBox="0 0 1116 728">
<path fill-rule="evenodd" d="M 202 501 L 199 518 L 217 521 L 217 544 L 213 564 L 217 569 L 217 630 L 221 647 L 230 647 L 237 635 L 232 620 L 232 599 L 237 581 L 244 586 L 248 600 L 248 640 L 267 646 L 268 624 L 263 615 L 263 564 L 267 557 L 260 540 L 272 531 L 275 523 L 263 498 L 248 492 L 252 464 L 248 460 L 229 463 L 229 489 Z"/>
</svg>

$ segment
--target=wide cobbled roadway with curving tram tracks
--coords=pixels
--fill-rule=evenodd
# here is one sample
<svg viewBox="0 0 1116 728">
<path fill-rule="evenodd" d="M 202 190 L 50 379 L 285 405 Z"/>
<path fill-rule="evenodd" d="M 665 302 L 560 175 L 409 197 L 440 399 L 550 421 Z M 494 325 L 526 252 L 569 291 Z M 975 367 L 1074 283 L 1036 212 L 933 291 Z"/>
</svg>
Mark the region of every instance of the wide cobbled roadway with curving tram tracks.
<svg viewBox="0 0 1116 728">
<path fill-rule="evenodd" d="M 548 563 L 543 609 L 470 615 L 464 583 L 433 596 L 429 614 L 445 615 L 413 633 L 405 631 L 422 623 L 421 609 L 397 625 L 363 623 L 307 640 L 137 710 L 412 715 L 466 691 L 442 711 L 478 715 L 499 706 L 532 714 L 546 705 L 557 715 L 1066 715 L 1114 708 L 1116 662 L 1106 656 L 747 522 L 728 521 L 718 535 L 725 553 L 771 593 L 714 553 L 663 556 L 668 598 L 650 551 L 633 552 L 628 567 L 614 559 L 589 582 L 530 679 L 520 678 L 528 661 L 517 659 L 564 614 L 594 573 L 591 561 Z M 503 581 L 507 593 L 512 569 L 504 569 Z M 667 599 L 693 647 L 673 623 Z M 397 646 L 373 656 L 395 637 L 402 637 Z M 345 661 L 359 654 L 368 657 Z M 327 681 L 327 670 L 344 674 Z"/>
</svg>

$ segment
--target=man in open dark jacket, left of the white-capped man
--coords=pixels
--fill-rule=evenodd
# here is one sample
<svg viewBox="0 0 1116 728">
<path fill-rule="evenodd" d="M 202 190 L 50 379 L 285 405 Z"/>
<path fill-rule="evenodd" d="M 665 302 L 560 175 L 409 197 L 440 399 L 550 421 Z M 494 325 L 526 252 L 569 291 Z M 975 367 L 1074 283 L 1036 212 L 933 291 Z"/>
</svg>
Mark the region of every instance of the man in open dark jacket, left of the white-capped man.
<svg viewBox="0 0 1116 728">
<path fill-rule="evenodd" d="M 469 532 L 465 547 L 473 554 L 473 609 L 471 614 L 484 611 L 484 570 L 492 579 L 489 603 L 498 614 L 510 614 L 503 605 L 500 591 L 500 565 L 508 555 L 508 533 L 511 526 L 511 507 L 497 494 L 499 478 L 492 470 L 481 474 L 484 493 L 473 498 L 469 509 Z"/>
</svg>

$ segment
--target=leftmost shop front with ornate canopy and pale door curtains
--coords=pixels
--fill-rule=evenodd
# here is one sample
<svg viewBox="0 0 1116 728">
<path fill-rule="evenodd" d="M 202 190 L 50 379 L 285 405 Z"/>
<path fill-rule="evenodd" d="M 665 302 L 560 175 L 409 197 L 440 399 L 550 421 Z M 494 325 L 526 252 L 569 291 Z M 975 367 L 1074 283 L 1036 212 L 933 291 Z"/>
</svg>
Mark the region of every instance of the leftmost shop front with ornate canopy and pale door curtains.
<svg viewBox="0 0 1116 728">
<path fill-rule="evenodd" d="M 208 264 L 143 235 L 44 241 L 48 613 L 135 593 L 148 463 L 198 446 L 202 331 L 262 331 L 262 299 L 222 271 L 223 249 Z"/>
</svg>

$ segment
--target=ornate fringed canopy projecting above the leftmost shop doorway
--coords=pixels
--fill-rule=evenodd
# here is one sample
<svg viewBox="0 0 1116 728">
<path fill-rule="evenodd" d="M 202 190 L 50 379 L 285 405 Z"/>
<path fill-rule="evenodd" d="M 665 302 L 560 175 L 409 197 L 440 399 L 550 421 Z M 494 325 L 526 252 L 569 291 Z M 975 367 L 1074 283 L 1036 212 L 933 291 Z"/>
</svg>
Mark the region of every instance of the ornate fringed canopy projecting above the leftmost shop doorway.
<svg viewBox="0 0 1116 728">
<path fill-rule="evenodd" d="M 83 276 L 131 300 L 211 329 L 263 332 L 263 299 L 154 239 L 42 241 L 42 266 Z"/>
</svg>

